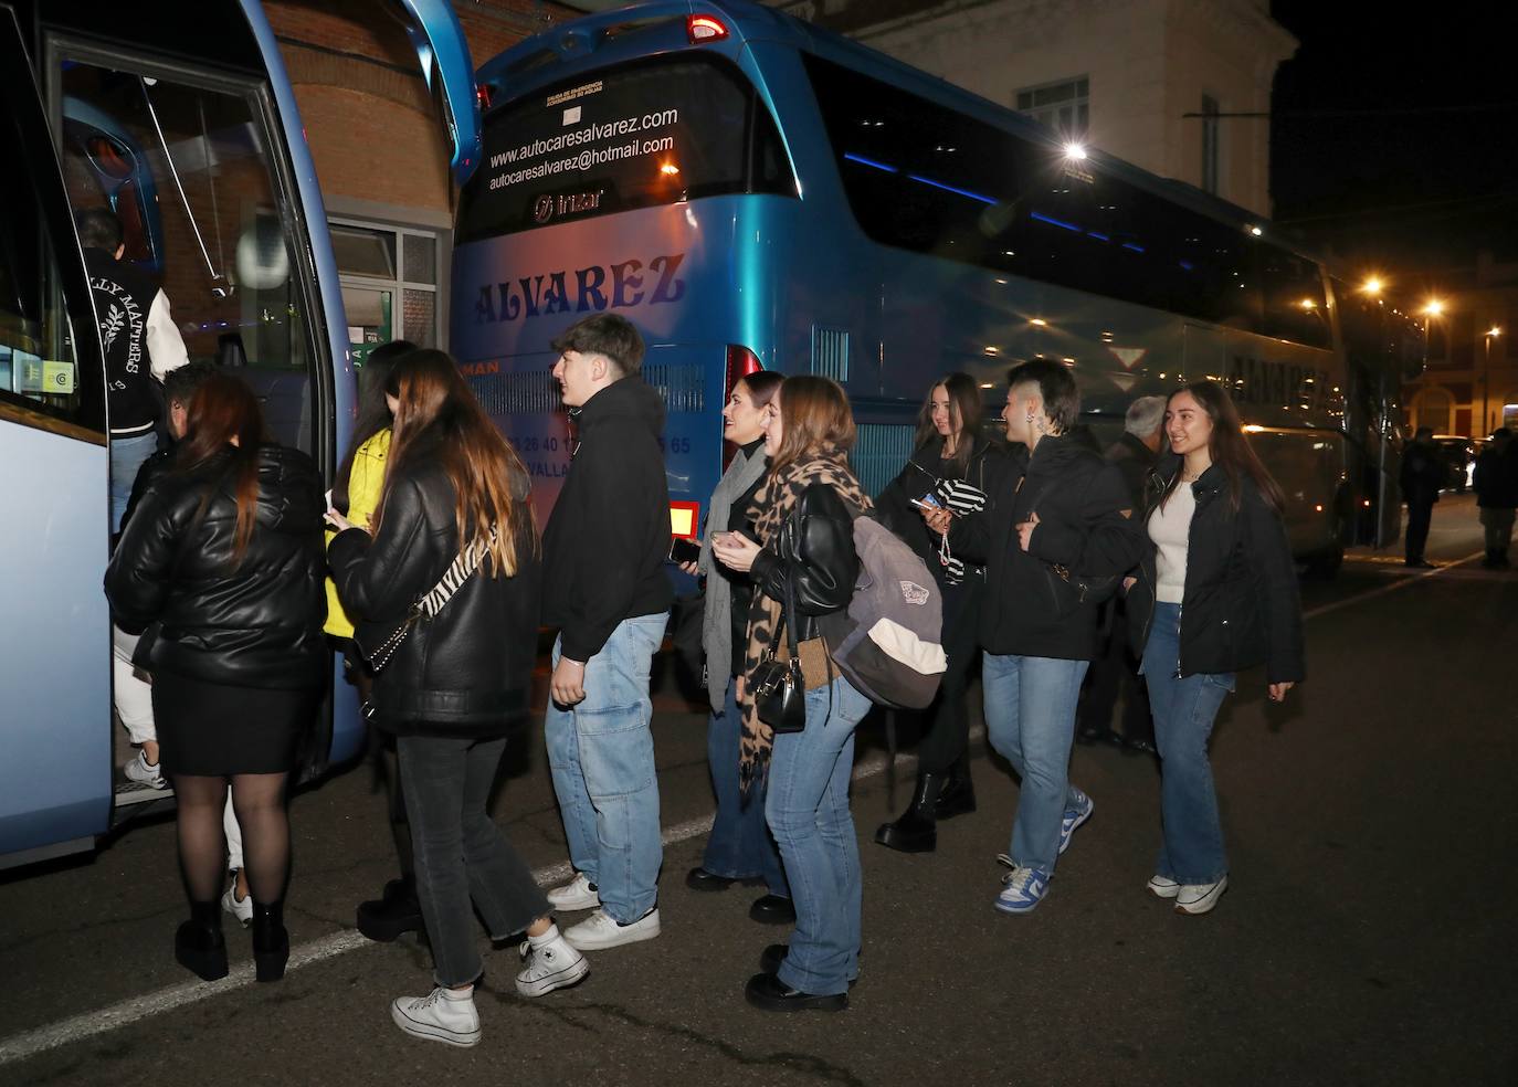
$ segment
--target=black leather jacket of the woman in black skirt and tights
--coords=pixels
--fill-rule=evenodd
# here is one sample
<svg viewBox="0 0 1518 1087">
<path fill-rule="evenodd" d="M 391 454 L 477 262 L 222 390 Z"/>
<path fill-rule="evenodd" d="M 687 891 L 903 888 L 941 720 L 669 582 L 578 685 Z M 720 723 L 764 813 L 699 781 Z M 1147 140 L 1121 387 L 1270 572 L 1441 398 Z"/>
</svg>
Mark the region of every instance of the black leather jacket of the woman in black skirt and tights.
<svg viewBox="0 0 1518 1087">
<path fill-rule="evenodd" d="M 258 449 L 258 513 L 247 551 L 231 568 L 232 452 L 194 472 L 158 474 L 105 572 L 117 624 L 158 621 L 141 665 L 211 683 L 301 689 L 326 677 L 322 638 L 322 480 L 298 449 Z M 211 490 L 205 515 L 200 499 Z"/>
</svg>

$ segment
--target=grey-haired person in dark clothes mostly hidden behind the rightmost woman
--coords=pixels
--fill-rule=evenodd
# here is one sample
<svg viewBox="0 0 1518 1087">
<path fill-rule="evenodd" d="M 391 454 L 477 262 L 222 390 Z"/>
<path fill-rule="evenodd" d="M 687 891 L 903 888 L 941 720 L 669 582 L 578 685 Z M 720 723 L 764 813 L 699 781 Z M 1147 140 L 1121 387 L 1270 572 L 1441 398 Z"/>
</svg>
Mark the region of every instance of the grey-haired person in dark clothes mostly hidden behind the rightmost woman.
<svg viewBox="0 0 1518 1087">
<path fill-rule="evenodd" d="M 1107 448 L 1107 463 L 1123 477 L 1132 509 L 1143 507 L 1143 484 L 1164 442 L 1164 396 L 1140 396 L 1123 416 L 1123 436 Z M 1122 595 L 1102 604 L 1101 656 L 1085 673 L 1076 714 L 1076 742 L 1110 742 L 1129 755 L 1155 755 L 1149 694 L 1138 676 L 1138 657 L 1128 638 Z M 1113 727 L 1117 698 L 1123 700 L 1122 732 Z"/>
</svg>

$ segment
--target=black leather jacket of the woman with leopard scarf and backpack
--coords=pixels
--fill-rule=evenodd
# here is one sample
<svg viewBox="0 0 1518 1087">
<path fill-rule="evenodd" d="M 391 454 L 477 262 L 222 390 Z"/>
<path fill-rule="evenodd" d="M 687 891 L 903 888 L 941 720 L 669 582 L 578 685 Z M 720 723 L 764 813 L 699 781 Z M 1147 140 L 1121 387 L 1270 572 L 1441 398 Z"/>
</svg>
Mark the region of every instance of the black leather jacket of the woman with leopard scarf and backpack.
<svg viewBox="0 0 1518 1087">
<path fill-rule="evenodd" d="M 853 516 L 833 487 L 814 483 L 795 501 L 779 539 L 754 556 L 750 575 L 759 591 L 785 604 L 785 584 L 795 600 L 795 639 L 817 638 L 817 616 L 849 607 L 859 580 Z"/>
</svg>

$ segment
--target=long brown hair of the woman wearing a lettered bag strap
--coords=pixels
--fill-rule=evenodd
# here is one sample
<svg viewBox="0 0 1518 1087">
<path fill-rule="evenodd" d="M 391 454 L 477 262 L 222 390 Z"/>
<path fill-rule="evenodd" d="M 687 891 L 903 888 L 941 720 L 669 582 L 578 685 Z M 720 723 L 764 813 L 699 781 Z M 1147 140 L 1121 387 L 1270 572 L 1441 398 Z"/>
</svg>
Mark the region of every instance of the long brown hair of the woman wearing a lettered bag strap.
<svg viewBox="0 0 1518 1087">
<path fill-rule="evenodd" d="M 515 575 L 521 536 L 527 536 L 533 551 L 537 548 L 531 504 L 512 496 L 512 474 L 519 472 L 525 480 L 527 469 L 465 384 L 458 364 L 443 351 L 413 351 L 395 363 L 386 392 L 399 404 L 375 507 L 375 534 L 399 469 L 413 457 L 427 458 L 439 463 L 454 486 L 458 550 L 486 547 L 490 577 Z"/>
</svg>

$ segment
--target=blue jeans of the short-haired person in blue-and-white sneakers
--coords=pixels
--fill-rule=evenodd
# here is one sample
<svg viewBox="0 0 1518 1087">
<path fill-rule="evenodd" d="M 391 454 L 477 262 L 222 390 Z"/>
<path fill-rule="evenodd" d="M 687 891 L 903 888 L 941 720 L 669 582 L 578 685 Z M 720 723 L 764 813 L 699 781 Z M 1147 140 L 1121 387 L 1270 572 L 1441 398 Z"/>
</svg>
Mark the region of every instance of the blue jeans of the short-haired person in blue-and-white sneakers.
<svg viewBox="0 0 1518 1087">
<path fill-rule="evenodd" d="M 1090 660 L 997 656 L 981 663 L 985 733 L 1022 777 L 1008 856 L 1023 868 L 1053 874 L 1060 824 L 1076 802 L 1070 788 L 1075 706 Z"/>
</svg>

